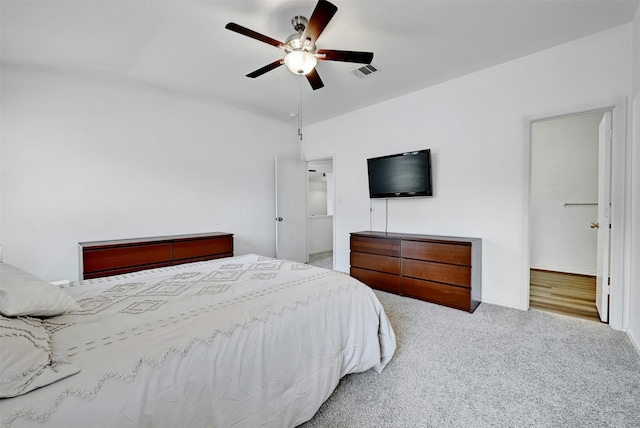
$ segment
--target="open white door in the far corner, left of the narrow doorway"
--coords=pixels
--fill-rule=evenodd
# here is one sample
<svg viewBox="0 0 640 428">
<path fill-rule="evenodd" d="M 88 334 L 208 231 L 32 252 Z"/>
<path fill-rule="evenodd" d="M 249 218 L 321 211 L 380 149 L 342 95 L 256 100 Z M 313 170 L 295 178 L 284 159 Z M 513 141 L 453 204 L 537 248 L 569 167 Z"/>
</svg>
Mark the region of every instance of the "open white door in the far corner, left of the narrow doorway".
<svg viewBox="0 0 640 428">
<path fill-rule="evenodd" d="M 276 257 L 307 262 L 307 176 L 300 159 L 276 156 Z"/>
</svg>

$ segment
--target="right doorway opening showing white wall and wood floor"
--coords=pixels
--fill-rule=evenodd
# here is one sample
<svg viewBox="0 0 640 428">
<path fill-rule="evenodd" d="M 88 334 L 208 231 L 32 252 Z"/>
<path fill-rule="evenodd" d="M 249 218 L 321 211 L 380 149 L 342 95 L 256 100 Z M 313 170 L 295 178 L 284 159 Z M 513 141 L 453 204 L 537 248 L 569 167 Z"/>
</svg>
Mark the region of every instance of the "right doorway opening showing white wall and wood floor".
<svg viewBox="0 0 640 428">
<path fill-rule="evenodd" d="M 610 186 L 610 156 L 605 160 L 608 172 L 599 171 L 599 129 L 607 115 L 611 109 L 531 122 L 531 308 L 607 321 L 608 299 L 606 308 L 599 302 L 603 317 L 596 310 L 596 277 L 602 279 L 602 266 L 609 276 L 608 228 L 606 242 L 599 229 L 605 206 L 599 183 Z M 607 147 L 610 153 L 610 141 Z M 604 198 L 608 212 L 608 192 Z M 599 252 L 603 246 L 607 251 Z"/>
</svg>

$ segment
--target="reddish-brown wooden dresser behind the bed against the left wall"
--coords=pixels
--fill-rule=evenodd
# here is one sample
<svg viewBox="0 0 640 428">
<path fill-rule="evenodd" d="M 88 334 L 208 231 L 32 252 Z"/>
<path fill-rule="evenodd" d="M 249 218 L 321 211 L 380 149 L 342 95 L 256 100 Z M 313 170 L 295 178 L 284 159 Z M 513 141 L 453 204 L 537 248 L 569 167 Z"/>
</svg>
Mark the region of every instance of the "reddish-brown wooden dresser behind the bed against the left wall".
<svg viewBox="0 0 640 428">
<path fill-rule="evenodd" d="M 233 256 L 233 234 L 213 232 L 80 242 L 80 278 L 100 278 Z"/>
</svg>

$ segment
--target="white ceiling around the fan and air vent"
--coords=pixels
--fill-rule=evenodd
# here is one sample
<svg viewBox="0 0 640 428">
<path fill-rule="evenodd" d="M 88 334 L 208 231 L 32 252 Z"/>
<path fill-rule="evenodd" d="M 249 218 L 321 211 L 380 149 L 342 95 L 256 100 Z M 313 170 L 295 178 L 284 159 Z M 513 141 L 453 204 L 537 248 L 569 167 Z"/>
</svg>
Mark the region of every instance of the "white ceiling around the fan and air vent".
<svg viewBox="0 0 640 428">
<path fill-rule="evenodd" d="M 332 0 L 338 12 L 319 49 L 374 52 L 381 71 L 322 61 L 325 87 L 279 67 L 268 44 L 224 28 L 235 22 L 284 41 L 314 0 L 75 0 L 0 3 L 3 64 L 106 73 L 209 97 L 284 122 L 330 117 L 630 22 L 638 1 Z"/>
</svg>

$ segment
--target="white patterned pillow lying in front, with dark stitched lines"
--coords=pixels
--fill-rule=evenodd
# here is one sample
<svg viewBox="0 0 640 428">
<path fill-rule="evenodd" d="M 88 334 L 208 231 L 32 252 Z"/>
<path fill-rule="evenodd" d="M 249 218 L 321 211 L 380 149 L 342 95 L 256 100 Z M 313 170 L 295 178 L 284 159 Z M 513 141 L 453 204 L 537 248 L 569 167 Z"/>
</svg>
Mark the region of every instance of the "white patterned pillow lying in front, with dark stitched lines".
<svg viewBox="0 0 640 428">
<path fill-rule="evenodd" d="M 49 332 L 37 318 L 0 316 L 0 398 L 26 394 L 80 369 L 53 355 Z"/>
</svg>

